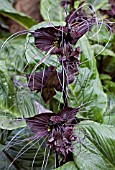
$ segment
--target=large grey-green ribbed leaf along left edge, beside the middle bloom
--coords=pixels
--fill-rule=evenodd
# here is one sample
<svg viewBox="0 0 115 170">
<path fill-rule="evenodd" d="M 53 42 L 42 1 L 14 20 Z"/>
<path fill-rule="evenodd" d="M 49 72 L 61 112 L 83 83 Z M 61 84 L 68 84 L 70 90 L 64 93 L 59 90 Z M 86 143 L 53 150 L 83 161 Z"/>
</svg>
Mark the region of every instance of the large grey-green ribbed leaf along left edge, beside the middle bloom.
<svg viewBox="0 0 115 170">
<path fill-rule="evenodd" d="M 8 43 L 0 53 L 0 128 L 25 127 L 23 120 L 36 114 L 34 94 L 27 88 L 25 76 L 25 39 Z"/>
</svg>

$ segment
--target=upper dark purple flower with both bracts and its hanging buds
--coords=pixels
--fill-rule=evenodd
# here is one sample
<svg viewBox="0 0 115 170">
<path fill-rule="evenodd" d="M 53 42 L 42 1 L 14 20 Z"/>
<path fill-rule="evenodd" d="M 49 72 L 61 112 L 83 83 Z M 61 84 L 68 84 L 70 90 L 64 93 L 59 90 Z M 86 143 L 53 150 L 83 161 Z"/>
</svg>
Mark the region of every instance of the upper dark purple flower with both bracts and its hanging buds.
<svg viewBox="0 0 115 170">
<path fill-rule="evenodd" d="M 73 45 L 95 23 L 95 17 L 93 15 L 87 17 L 80 6 L 78 11 L 73 9 L 70 12 L 65 18 L 65 23 L 65 26 L 37 29 L 32 35 L 38 49 L 58 56 L 59 62 L 69 76 L 78 73 L 80 48 L 74 49 Z"/>
</svg>

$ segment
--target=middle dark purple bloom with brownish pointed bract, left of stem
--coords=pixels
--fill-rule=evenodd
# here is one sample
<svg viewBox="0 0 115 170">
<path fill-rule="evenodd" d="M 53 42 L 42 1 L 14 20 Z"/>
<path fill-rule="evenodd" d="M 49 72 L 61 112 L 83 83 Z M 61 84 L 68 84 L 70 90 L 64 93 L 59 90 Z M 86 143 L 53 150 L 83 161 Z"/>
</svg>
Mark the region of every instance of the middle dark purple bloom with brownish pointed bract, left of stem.
<svg viewBox="0 0 115 170">
<path fill-rule="evenodd" d="M 49 66 L 35 74 L 26 75 L 28 81 L 28 87 L 31 91 L 41 92 L 41 96 L 45 102 L 51 99 L 55 94 L 55 90 L 62 91 L 62 73 L 57 73 L 56 68 Z M 73 81 L 69 78 L 69 84 Z"/>
</svg>

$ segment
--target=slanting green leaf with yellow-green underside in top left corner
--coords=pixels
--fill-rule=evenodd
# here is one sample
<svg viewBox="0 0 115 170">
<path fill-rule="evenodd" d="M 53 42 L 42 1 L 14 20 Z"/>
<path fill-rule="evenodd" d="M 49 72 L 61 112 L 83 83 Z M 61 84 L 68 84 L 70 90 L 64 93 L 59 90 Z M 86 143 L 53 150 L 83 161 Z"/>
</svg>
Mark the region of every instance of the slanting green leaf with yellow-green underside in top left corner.
<svg viewBox="0 0 115 170">
<path fill-rule="evenodd" d="M 26 29 L 36 24 L 31 17 L 16 11 L 8 0 L 0 0 L 0 14 L 13 19 Z"/>
</svg>

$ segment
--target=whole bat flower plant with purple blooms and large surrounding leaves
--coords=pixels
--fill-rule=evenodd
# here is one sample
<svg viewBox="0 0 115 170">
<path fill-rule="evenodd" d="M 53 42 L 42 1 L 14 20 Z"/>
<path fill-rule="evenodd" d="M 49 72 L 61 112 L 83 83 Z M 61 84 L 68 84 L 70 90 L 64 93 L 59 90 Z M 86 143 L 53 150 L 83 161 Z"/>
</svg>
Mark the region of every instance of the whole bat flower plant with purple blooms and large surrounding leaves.
<svg viewBox="0 0 115 170">
<path fill-rule="evenodd" d="M 91 4 L 79 3 L 75 9 L 74 1 L 61 1 L 57 6 L 64 22 L 43 22 L 17 33 L 27 34 L 23 64 L 6 62 L 6 72 L 1 69 L 1 85 L 9 95 L 1 105 L 6 116 L 1 159 L 7 160 L 1 169 L 114 169 L 114 127 L 103 123 L 107 96 L 87 40 L 88 32 L 104 24 Z"/>
</svg>

